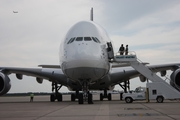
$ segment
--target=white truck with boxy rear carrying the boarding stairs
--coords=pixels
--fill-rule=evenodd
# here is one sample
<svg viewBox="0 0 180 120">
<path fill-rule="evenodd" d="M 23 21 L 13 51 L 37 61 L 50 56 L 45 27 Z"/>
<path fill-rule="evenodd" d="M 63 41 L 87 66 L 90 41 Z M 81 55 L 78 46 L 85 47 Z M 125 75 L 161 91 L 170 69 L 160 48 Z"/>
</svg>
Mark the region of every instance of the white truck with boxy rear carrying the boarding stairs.
<svg viewBox="0 0 180 120">
<path fill-rule="evenodd" d="M 162 103 L 164 99 L 180 99 L 180 93 L 165 82 L 147 83 L 147 87 L 138 87 L 135 91 L 123 93 L 123 100 L 132 103 L 135 100 L 156 100 Z M 171 88 L 171 89 L 169 89 Z"/>
</svg>

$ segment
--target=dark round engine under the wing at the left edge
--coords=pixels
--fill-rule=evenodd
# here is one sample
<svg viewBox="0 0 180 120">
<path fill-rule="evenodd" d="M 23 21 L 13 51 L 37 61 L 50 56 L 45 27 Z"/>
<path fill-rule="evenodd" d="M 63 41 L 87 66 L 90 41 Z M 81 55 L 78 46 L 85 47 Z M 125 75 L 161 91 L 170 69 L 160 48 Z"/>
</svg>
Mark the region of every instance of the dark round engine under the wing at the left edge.
<svg viewBox="0 0 180 120">
<path fill-rule="evenodd" d="M 11 81 L 9 77 L 0 72 L 0 95 L 6 94 L 11 88 Z"/>
</svg>

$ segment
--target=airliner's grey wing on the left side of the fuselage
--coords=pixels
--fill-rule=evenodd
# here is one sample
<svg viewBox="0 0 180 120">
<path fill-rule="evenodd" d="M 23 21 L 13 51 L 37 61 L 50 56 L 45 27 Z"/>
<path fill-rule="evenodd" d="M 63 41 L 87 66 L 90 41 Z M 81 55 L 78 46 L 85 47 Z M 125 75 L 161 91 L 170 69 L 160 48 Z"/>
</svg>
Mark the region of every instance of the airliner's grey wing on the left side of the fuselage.
<svg viewBox="0 0 180 120">
<path fill-rule="evenodd" d="M 0 67 L 0 73 L 5 75 L 16 74 L 18 79 L 23 75 L 36 77 L 37 82 L 42 83 L 43 79 L 58 82 L 67 86 L 67 78 L 61 69 L 57 68 L 19 68 L 19 67 Z"/>
</svg>

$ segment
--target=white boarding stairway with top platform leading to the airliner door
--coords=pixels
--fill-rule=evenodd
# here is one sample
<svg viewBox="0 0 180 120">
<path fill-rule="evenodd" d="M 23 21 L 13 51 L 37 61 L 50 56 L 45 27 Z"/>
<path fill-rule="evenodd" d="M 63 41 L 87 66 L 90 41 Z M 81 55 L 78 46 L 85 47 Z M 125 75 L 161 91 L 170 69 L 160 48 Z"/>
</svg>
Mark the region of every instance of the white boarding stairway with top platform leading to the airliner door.
<svg viewBox="0 0 180 120">
<path fill-rule="evenodd" d="M 129 63 L 135 70 L 137 70 L 140 74 L 148 78 L 148 80 L 152 81 L 152 84 L 161 84 L 162 89 L 166 89 L 169 92 L 170 96 L 178 96 L 180 98 L 180 92 L 177 91 L 175 88 L 170 86 L 167 82 L 165 82 L 162 78 L 160 78 L 156 73 L 153 73 L 148 66 L 144 65 L 140 60 L 137 58 L 135 52 L 129 52 L 128 55 L 119 55 L 116 54 L 114 56 L 114 61 L 118 63 Z M 150 83 L 151 84 L 151 83 Z M 148 86 L 148 83 L 147 83 Z M 169 97 L 167 96 L 167 99 Z M 169 98 L 171 99 L 171 98 Z"/>
</svg>

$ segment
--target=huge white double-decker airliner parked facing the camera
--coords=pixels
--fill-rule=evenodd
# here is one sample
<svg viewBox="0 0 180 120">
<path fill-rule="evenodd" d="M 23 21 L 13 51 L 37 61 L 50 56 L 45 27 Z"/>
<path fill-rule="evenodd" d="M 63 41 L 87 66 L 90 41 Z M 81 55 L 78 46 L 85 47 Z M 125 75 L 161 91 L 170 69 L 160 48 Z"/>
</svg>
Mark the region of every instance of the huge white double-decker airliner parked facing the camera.
<svg viewBox="0 0 180 120">
<path fill-rule="evenodd" d="M 18 79 L 27 75 L 36 77 L 38 83 L 42 83 L 43 79 L 52 82 L 55 93 L 50 96 L 51 101 L 62 101 L 62 94 L 58 90 L 66 86 L 69 90 L 76 91 L 71 94 L 71 101 L 77 98 L 79 104 L 83 104 L 86 98 L 89 104 L 92 103 L 90 90 L 104 90 L 104 94 L 100 94 L 100 100 L 111 100 L 111 94 L 107 94 L 107 90 L 112 90 L 115 85 L 138 76 L 142 82 L 146 80 L 132 67 L 113 66 L 111 40 L 105 30 L 93 21 L 81 21 L 72 26 L 61 42 L 59 54 L 60 65 L 39 65 L 42 68 L 0 67 L 0 95 L 10 90 L 8 75 L 11 73 L 16 74 Z M 160 72 L 162 76 L 166 74 L 166 70 L 173 70 L 171 85 L 180 87 L 179 65 L 149 65 L 149 68 Z"/>
</svg>

